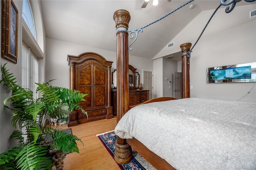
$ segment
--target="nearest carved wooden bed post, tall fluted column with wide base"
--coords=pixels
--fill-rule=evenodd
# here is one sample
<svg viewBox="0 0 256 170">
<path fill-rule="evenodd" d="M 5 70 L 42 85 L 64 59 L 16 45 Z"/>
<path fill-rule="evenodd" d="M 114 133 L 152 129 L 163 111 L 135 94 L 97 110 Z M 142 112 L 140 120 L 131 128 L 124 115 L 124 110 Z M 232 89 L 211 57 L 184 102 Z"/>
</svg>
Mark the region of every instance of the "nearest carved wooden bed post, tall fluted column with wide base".
<svg viewBox="0 0 256 170">
<path fill-rule="evenodd" d="M 126 10 L 114 12 L 116 22 L 116 69 L 117 69 L 117 90 L 116 90 L 116 111 L 117 122 L 129 109 L 129 66 L 128 66 L 128 24 L 130 13 Z M 132 160 L 132 148 L 125 139 L 117 136 L 114 159 L 118 164 L 127 164 Z"/>
</svg>

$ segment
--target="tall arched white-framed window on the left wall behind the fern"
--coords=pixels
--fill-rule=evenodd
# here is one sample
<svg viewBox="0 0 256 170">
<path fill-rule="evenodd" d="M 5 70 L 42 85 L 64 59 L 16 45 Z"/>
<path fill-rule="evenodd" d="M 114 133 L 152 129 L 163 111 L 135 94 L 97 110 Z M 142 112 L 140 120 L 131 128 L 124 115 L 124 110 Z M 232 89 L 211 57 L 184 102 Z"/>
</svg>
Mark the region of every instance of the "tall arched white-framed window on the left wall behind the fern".
<svg viewBox="0 0 256 170">
<path fill-rule="evenodd" d="M 33 91 L 34 99 L 38 98 L 35 83 L 44 82 L 44 33 L 39 3 L 40 1 L 23 0 L 21 22 L 20 82 L 22 87 Z M 22 128 L 22 132 L 24 131 L 25 128 Z M 23 137 L 26 140 L 27 136 Z"/>
</svg>

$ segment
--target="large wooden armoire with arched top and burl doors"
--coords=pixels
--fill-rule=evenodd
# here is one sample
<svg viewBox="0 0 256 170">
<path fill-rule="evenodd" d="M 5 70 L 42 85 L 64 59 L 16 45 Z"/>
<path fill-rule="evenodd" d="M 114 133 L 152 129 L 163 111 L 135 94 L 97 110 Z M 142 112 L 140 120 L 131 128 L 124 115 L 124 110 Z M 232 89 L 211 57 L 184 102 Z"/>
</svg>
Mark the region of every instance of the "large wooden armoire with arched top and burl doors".
<svg viewBox="0 0 256 170">
<path fill-rule="evenodd" d="M 70 66 L 70 89 L 88 94 L 80 106 L 87 111 L 88 118 L 81 111 L 72 111 L 68 117 L 68 127 L 80 123 L 113 118 L 111 106 L 110 69 L 112 61 L 107 61 L 97 53 L 86 52 L 78 56 L 68 55 Z"/>
</svg>

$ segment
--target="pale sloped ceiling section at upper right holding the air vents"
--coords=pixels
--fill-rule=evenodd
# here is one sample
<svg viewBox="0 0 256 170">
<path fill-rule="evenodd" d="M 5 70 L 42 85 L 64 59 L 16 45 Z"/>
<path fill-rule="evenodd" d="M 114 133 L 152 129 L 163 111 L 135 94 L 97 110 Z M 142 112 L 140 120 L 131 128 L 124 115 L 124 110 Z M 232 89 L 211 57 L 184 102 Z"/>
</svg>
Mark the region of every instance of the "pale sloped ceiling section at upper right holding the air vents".
<svg viewBox="0 0 256 170">
<path fill-rule="evenodd" d="M 236 6 L 234 10 L 228 14 L 225 13 L 225 8 L 220 8 L 206 27 L 201 39 L 211 36 L 212 34 L 222 32 L 223 30 L 232 29 L 236 26 L 256 20 L 256 17 L 249 18 L 249 12 L 256 9 L 256 4 L 248 4 L 250 5 Z M 181 51 L 180 45 L 183 43 L 190 42 L 194 45 L 213 12 L 214 10 L 205 10 L 200 12 L 200 14 L 198 14 L 194 20 L 181 30 L 174 39 L 170 40 L 169 43 L 174 42 L 174 46 L 167 48 L 166 45 L 153 59 Z M 249 34 L 249 32 L 247 33 Z M 201 42 L 201 39 L 199 42 Z M 228 40 L 226 40 L 226 42 L 228 42 Z M 198 45 L 195 47 L 197 46 Z"/>
</svg>

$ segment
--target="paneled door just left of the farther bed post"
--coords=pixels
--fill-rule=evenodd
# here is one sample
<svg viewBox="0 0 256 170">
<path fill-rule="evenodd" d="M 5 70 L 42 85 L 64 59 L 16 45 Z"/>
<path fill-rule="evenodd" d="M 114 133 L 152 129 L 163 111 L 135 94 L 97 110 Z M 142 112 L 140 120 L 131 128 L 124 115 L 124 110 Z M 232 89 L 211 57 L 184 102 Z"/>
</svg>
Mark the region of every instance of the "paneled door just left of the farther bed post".
<svg viewBox="0 0 256 170">
<path fill-rule="evenodd" d="M 182 98 L 182 74 L 180 72 L 173 72 L 173 97 L 176 99 Z"/>
</svg>

